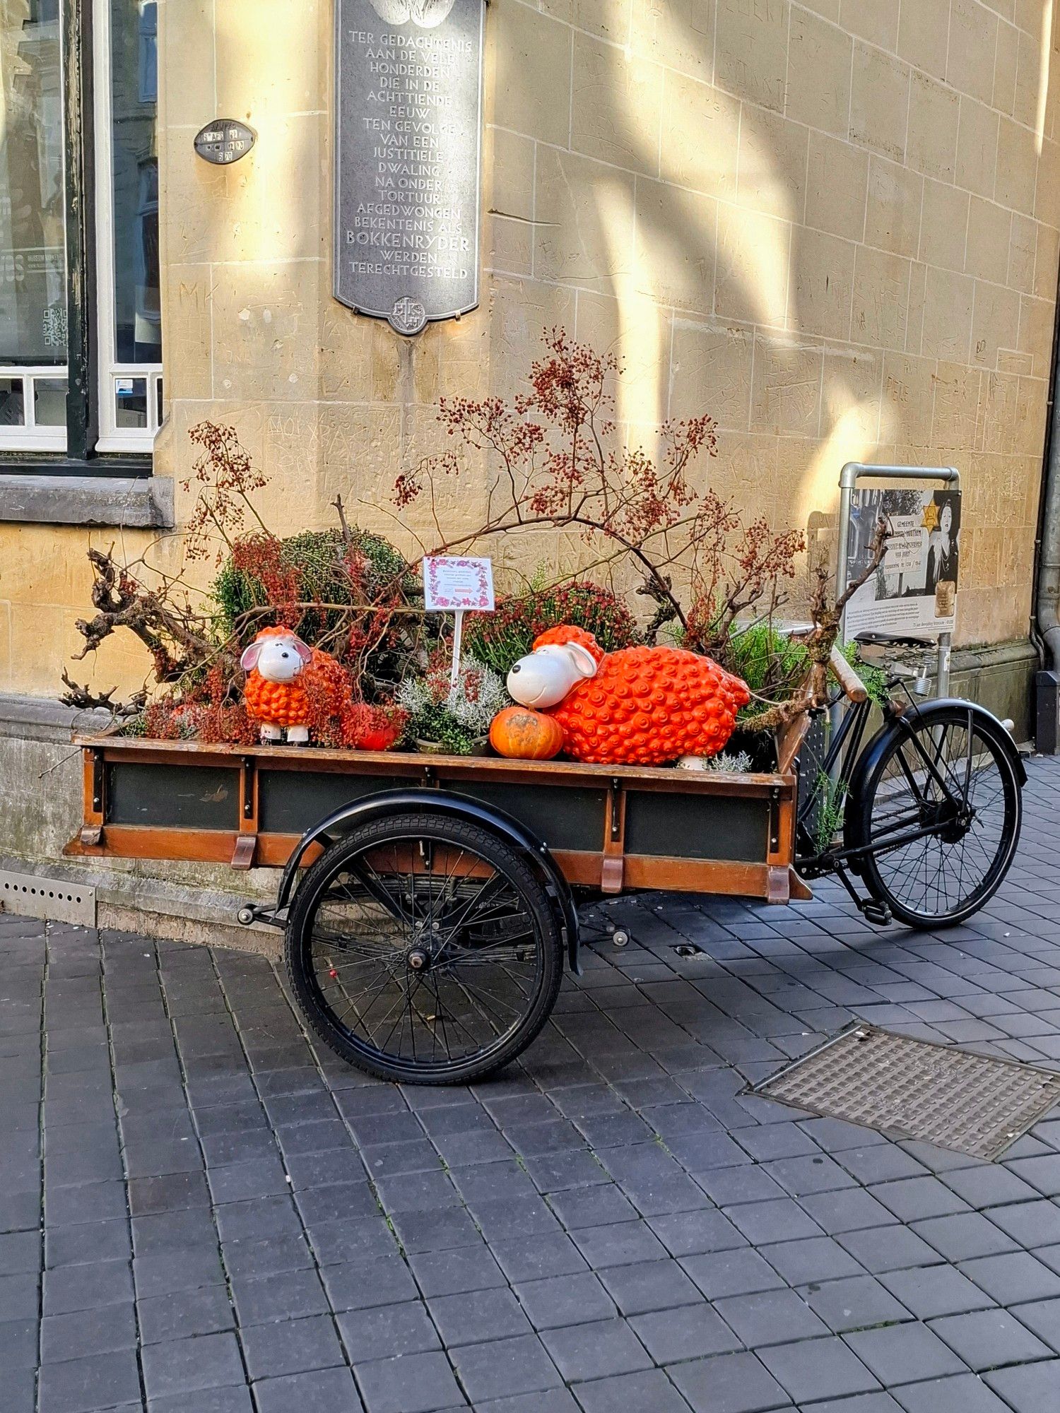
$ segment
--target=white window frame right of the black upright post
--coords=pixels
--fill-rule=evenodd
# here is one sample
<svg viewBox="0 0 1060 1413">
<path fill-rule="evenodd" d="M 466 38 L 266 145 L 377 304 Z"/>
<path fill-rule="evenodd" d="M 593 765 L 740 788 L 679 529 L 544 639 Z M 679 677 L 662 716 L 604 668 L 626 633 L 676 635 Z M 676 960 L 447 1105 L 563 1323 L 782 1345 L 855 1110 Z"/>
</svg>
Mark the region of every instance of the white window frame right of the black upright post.
<svg viewBox="0 0 1060 1413">
<path fill-rule="evenodd" d="M 150 452 L 158 431 L 161 363 L 119 363 L 114 348 L 114 172 L 113 124 L 110 113 L 110 0 L 93 0 L 93 117 L 96 177 L 96 348 L 99 350 L 99 438 L 100 452 Z M 117 383 L 123 379 L 147 379 L 147 427 L 117 425 Z"/>
</svg>

